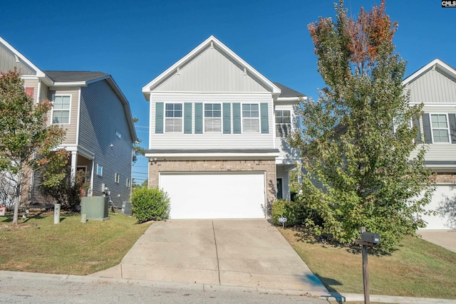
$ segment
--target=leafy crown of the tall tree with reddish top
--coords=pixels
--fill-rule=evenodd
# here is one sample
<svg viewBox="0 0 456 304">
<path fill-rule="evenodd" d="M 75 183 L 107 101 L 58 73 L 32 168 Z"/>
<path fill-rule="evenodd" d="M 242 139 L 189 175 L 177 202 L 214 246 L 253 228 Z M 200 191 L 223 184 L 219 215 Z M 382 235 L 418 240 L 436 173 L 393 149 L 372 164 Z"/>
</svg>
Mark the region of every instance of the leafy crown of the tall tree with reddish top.
<svg viewBox="0 0 456 304">
<path fill-rule="evenodd" d="M 336 22 L 308 26 L 327 87 L 302 105 L 302 132 L 290 140 L 305 156 L 300 201 L 323 218 L 307 222 L 316 234 L 353 243 L 366 226 L 390 249 L 425 226 L 420 214 L 432 196 L 425 147 L 410 127 L 423 105 L 410 107 L 403 92 L 405 62 L 392 42 L 398 23 L 385 1 L 357 19 L 347 12 L 340 1 Z"/>
</svg>

